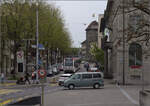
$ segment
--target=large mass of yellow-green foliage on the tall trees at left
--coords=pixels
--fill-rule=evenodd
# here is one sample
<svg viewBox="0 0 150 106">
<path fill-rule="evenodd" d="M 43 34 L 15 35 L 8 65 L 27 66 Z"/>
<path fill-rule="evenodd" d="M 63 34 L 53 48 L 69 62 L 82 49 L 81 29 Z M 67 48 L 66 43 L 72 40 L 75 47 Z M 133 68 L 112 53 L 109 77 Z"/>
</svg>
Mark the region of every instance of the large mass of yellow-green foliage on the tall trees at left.
<svg viewBox="0 0 150 106">
<path fill-rule="evenodd" d="M 1 5 L 2 28 L 5 39 L 23 43 L 22 39 L 35 39 L 37 6 L 29 3 L 29 0 L 25 3 L 19 1 L 13 0 Z M 69 52 L 72 42 L 61 11 L 53 4 L 44 2 L 39 3 L 38 10 L 40 43 L 47 48 Z"/>
</svg>

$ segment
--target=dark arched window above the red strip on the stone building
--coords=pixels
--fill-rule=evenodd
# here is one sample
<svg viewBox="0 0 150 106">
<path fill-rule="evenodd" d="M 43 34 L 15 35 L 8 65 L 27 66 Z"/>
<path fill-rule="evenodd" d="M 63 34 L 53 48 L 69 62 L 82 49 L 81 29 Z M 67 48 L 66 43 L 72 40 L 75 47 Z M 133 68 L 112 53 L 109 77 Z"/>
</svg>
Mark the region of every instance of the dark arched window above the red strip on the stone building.
<svg viewBox="0 0 150 106">
<path fill-rule="evenodd" d="M 138 43 L 130 44 L 129 66 L 131 68 L 138 68 L 142 66 L 142 47 Z"/>
</svg>

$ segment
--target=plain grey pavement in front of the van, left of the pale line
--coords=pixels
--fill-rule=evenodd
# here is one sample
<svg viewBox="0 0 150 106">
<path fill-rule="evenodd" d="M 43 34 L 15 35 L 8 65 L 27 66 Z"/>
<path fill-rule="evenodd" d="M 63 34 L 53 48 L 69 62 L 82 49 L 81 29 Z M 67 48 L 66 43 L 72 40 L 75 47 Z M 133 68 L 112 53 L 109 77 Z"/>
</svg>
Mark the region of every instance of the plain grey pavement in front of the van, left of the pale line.
<svg viewBox="0 0 150 106">
<path fill-rule="evenodd" d="M 138 101 L 138 97 L 134 98 Z M 104 88 L 62 89 L 45 95 L 45 106 L 138 106 L 118 87 L 107 84 Z"/>
</svg>

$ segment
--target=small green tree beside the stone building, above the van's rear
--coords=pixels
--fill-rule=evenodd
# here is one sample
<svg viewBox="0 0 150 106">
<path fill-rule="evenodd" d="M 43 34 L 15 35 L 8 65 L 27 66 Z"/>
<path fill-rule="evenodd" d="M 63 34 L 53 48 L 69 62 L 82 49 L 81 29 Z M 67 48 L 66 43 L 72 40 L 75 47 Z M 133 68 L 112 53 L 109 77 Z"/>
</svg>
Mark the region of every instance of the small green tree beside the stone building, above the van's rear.
<svg viewBox="0 0 150 106">
<path fill-rule="evenodd" d="M 90 53 L 94 60 L 99 62 L 101 65 L 104 65 L 104 51 L 98 48 L 96 44 L 93 44 L 92 46 L 93 47 L 91 48 Z"/>
</svg>

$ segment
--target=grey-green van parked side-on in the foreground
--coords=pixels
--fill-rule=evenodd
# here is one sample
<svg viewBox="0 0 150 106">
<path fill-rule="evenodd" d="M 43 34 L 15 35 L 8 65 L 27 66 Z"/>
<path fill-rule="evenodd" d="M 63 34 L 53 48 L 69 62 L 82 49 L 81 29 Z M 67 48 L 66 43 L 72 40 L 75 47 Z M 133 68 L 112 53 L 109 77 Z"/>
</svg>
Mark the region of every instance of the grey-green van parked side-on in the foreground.
<svg viewBox="0 0 150 106">
<path fill-rule="evenodd" d="M 75 87 L 100 88 L 104 86 L 103 73 L 101 72 L 80 72 L 75 73 L 64 81 L 64 87 L 74 89 Z"/>
</svg>

